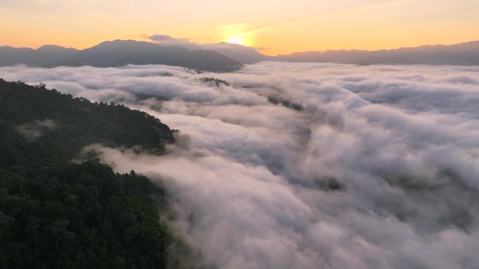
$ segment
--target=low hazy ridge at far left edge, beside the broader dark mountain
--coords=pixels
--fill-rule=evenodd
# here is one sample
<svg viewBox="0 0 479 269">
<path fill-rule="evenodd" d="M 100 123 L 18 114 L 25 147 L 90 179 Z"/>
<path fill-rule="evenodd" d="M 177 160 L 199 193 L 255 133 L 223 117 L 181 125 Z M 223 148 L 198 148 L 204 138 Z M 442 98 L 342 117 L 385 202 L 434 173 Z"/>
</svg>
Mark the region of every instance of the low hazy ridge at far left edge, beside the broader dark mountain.
<svg viewBox="0 0 479 269">
<path fill-rule="evenodd" d="M 13 66 L 15 64 L 40 66 L 58 61 L 75 52 L 78 52 L 78 50 L 57 45 L 44 45 L 36 50 L 4 46 L 0 47 L 0 66 Z"/>
</svg>

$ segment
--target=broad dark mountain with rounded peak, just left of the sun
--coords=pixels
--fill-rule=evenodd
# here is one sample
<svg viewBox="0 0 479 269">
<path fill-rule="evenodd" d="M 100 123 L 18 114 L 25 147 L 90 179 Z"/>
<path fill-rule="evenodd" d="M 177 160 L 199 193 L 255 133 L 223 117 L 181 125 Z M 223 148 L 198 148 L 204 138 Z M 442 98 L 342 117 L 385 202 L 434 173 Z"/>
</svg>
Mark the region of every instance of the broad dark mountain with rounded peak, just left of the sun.
<svg viewBox="0 0 479 269">
<path fill-rule="evenodd" d="M 106 41 L 95 47 L 70 54 L 48 66 L 113 67 L 127 64 L 165 64 L 204 71 L 226 72 L 242 64 L 210 50 L 186 50 L 143 41 Z"/>
</svg>

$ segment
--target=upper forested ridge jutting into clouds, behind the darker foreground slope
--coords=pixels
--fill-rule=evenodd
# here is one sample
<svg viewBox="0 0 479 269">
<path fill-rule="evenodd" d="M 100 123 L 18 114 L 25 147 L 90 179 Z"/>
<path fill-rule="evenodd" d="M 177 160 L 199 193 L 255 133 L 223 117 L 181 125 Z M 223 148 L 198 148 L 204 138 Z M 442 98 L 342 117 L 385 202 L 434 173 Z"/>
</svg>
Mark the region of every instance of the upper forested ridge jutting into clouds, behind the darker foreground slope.
<svg viewBox="0 0 479 269">
<path fill-rule="evenodd" d="M 61 140 L 55 142 L 61 142 L 69 149 L 55 150 L 61 150 L 71 157 L 76 156 L 81 147 L 91 143 L 125 147 L 140 145 L 161 151 L 165 143 L 174 140 L 167 125 L 145 112 L 113 103 L 73 99 L 69 94 L 46 89 L 45 85 L 32 87 L 22 82 L 5 82 L 1 79 L 0 119 L 18 125 L 32 125 L 39 120 L 53 122 L 60 128 L 44 133 L 40 140 Z"/>
</svg>

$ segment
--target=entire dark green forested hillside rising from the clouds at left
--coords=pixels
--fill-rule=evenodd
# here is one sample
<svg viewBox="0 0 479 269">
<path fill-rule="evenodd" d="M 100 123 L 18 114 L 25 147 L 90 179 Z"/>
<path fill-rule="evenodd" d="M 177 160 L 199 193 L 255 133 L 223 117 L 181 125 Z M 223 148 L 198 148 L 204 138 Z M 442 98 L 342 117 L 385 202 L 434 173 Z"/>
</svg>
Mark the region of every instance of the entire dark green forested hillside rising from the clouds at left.
<svg viewBox="0 0 479 269">
<path fill-rule="evenodd" d="M 173 141 L 144 112 L 0 79 L 0 268 L 165 268 L 161 190 L 71 160 L 92 143 L 161 154 Z"/>
</svg>

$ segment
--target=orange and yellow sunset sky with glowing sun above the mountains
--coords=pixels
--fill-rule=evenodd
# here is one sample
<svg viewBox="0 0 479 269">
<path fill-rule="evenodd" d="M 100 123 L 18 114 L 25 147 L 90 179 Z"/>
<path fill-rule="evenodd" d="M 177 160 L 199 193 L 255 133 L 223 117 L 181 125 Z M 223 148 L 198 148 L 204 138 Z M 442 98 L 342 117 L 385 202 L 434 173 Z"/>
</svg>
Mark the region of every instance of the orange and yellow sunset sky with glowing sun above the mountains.
<svg viewBox="0 0 479 269">
<path fill-rule="evenodd" d="M 477 0 L 0 0 L 0 45 L 78 49 L 163 34 L 265 54 L 479 40 Z"/>
</svg>

